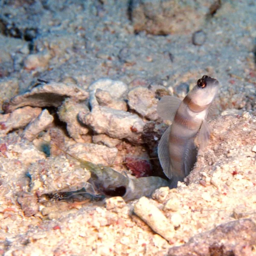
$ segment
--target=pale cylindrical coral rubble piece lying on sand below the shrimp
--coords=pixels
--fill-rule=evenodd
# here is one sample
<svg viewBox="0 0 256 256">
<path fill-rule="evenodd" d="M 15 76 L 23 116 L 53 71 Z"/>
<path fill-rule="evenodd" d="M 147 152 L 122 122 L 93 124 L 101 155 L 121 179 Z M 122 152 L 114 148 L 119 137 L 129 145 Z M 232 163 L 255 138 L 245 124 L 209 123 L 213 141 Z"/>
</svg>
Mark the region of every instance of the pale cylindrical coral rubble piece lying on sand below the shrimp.
<svg viewBox="0 0 256 256">
<path fill-rule="evenodd" d="M 134 205 L 134 212 L 137 214 L 154 232 L 170 241 L 174 236 L 174 227 L 165 215 L 156 206 L 151 204 L 148 198 L 142 197 Z"/>
</svg>

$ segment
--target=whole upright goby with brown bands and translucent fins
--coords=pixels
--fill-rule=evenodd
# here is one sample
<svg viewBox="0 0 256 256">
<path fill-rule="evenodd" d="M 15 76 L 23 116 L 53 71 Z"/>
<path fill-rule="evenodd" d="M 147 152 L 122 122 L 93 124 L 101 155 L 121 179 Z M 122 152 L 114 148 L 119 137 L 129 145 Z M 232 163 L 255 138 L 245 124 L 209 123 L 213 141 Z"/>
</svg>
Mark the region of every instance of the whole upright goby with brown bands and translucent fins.
<svg viewBox="0 0 256 256">
<path fill-rule="evenodd" d="M 176 187 L 194 166 L 198 150 L 203 150 L 209 141 L 210 129 L 206 118 L 218 93 L 219 82 L 203 76 L 197 85 L 181 101 L 172 96 L 163 96 L 157 105 L 157 113 L 172 121 L 160 139 L 158 157 L 165 175 Z M 197 144 L 195 145 L 195 138 Z"/>
</svg>

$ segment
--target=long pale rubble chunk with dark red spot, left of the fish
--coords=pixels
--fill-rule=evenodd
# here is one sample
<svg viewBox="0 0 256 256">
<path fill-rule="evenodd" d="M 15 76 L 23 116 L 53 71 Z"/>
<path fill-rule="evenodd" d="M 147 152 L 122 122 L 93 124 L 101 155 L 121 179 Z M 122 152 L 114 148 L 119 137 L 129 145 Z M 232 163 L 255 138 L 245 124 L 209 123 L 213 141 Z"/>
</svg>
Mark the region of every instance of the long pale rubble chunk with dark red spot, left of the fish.
<svg viewBox="0 0 256 256">
<path fill-rule="evenodd" d="M 98 134 L 142 144 L 144 122 L 139 116 L 112 108 L 95 106 L 91 113 L 79 112 L 79 120 Z"/>
</svg>

